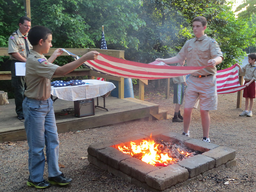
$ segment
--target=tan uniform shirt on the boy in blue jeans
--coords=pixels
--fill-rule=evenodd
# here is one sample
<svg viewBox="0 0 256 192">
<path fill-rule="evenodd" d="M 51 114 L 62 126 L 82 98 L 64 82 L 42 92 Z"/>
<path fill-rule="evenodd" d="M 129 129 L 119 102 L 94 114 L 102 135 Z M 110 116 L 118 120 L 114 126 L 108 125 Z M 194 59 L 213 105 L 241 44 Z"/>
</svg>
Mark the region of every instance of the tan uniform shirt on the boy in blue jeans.
<svg viewBox="0 0 256 192">
<path fill-rule="evenodd" d="M 51 79 L 58 65 L 49 63 L 44 55 L 30 51 L 26 62 L 24 95 L 30 99 L 47 100 L 51 97 Z"/>
</svg>

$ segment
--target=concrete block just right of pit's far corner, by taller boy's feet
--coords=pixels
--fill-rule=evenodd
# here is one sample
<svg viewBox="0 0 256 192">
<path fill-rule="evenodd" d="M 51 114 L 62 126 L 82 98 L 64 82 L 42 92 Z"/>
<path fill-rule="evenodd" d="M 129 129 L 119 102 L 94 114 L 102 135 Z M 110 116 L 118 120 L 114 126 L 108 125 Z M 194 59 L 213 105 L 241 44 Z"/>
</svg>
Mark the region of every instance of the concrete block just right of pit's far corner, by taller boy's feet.
<svg viewBox="0 0 256 192">
<path fill-rule="evenodd" d="M 168 133 L 163 133 L 161 135 L 162 140 L 165 142 L 174 142 L 178 145 L 184 146 L 184 142 L 187 140 L 190 140 L 190 137 L 187 137 L 185 135 L 181 135 L 179 133 L 174 133 L 174 132 L 168 132 Z"/>
</svg>

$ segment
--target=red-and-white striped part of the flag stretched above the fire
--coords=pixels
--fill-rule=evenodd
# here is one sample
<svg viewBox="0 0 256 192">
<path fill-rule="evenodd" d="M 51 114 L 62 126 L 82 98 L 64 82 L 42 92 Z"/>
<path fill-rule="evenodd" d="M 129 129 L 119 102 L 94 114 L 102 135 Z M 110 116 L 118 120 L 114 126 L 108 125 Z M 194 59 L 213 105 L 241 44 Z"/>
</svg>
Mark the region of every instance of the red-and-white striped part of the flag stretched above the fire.
<svg viewBox="0 0 256 192">
<path fill-rule="evenodd" d="M 157 62 L 161 63 L 160 61 Z M 205 68 L 148 65 L 145 63 L 111 57 L 102 53 L 98 55 L 97 60 L 88 60 L 84 65 L 100 73 L 112 76 L 150 80 L 183 76 Z"/>
</svg>

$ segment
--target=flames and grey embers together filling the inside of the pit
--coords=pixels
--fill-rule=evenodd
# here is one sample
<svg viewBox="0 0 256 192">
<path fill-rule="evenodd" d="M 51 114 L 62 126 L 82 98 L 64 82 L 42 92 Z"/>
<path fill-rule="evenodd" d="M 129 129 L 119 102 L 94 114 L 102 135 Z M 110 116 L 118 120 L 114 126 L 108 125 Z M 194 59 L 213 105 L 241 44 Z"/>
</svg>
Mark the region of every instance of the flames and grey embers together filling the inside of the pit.
<svg viewBox="0 0 256 192">
<path fill-rule="evenodd" d="M 151 136 L 148 140 L 142 140 L 139 145 L 131 141 L 128 147 L 119 145 L 118 149 L 148 164 L 164 167 L 197 155 L 196 152 L 185 150 L 172 142 L 157 140 L 156 143 Z"/>
</svg>

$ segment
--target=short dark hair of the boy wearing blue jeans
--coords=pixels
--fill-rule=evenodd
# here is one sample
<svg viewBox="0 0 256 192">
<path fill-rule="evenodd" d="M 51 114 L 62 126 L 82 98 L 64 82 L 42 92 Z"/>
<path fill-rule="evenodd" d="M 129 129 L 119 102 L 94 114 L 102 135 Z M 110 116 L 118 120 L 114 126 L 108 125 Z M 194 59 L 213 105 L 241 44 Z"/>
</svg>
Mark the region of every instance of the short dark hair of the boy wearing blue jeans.
<svg viewBox="0 0 256 192">
<path fill-rule="evenodd" d="M 28 32 L 28 40 L 31 45 L 37 45 L 40 39 L 44 41 L 48 35 L 52 34 L 52 31 L 44 26 L 36 25 L 32 27 Z"/>
</svg>

